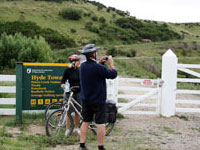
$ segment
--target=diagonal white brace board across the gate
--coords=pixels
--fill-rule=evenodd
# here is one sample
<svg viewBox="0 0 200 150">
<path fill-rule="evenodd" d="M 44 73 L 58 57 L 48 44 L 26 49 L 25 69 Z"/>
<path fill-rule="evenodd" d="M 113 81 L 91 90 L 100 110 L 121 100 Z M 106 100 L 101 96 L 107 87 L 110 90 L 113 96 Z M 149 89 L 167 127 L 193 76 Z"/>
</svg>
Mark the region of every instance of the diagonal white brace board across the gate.
<svg viewBox="0 0 200 150">
<path fill-rule="evenodd" d="M 118 111 L 119 111 L 120 113 L 122 113 L 122 112 L 126 111 L 127 109 L 133 107 L 133 106 L 136 105 L 137 103 L 141 102 L 142 100 L 144 100 L 144 99 L 146 99 L 146 98 L 148 98 L 148 97 L 150 97 L 150 96 L 152 96 L 152 95 L 154 95 L 154 94 L 156 94 L 156 93 L 157 93 L 157 89 L 156 89 L 156 90 L 153 90 L 153 91 L 150 91 L 150 92 L 148 92 L 148 93 L 145 94 L 145 95 L 141 95 L 141 96 L 138 97 L 136 100 L 127 103 L 126 106 L 119 108 Z"/>
</svg>

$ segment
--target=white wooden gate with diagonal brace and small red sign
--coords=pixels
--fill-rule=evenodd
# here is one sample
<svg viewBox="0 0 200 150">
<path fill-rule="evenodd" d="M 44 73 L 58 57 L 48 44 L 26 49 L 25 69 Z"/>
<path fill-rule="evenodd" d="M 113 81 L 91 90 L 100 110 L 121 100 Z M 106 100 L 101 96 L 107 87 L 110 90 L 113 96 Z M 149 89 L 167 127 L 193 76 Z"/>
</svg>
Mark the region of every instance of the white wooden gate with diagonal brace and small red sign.
<svg viewBox="0 0 200 150">
<path fill-rule="evenodd" d="M 159 114 L 160 79 L 118 79 L 118 112 L 123 114 Z"/>
</svg>

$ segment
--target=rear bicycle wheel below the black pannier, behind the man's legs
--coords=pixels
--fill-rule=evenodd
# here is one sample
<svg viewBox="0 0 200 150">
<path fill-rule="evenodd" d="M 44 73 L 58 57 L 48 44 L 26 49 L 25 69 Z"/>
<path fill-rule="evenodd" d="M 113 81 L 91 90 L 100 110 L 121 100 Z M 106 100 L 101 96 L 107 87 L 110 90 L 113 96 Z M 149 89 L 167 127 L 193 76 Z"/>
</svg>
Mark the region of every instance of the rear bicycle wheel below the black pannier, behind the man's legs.
<svg viewBox="0 0 200 150">
<path fill-rule="evenodd" d="M 110 135 L 110 133 L 112 132 L 113 128 L 114 128 L 114 123 L 106 123 L 105 124 L 105 136 Z M 92 130 L 92 132 L 97 135 L 97 126 L 95 125 L 95 123 L 91 123 L 91 125 L 89 126 L 90 129 Z"/>
</svg>

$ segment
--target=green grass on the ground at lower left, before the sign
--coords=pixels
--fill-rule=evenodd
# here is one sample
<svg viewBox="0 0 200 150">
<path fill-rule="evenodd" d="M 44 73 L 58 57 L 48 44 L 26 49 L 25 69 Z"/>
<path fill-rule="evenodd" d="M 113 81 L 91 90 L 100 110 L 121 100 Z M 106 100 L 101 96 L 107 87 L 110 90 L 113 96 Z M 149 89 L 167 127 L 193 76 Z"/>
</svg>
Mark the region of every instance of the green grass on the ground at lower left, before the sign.
<svg viewBox="0 0 200 150">
<path fill-rule="evenodd" d="M 43 150 L 56 145 L 78 145 L 78 136 L 58 140 L 57 137 L 48 137 L 42 134 L 29 135 L 29 133 L 27 135 L 27 129 L 32 124 L 44 127 L 43 118 L 43 114 L 26 114 L 23 116 L 23 124 L 17 125 L 13 117 L 0 116 L 0 150 Z M 18 128 L 20 133 L 8 132 L 10 127 Z M 96 136 L 89 133 L 87 140 L 92 143 L 96 141 Z"/>
</svg>

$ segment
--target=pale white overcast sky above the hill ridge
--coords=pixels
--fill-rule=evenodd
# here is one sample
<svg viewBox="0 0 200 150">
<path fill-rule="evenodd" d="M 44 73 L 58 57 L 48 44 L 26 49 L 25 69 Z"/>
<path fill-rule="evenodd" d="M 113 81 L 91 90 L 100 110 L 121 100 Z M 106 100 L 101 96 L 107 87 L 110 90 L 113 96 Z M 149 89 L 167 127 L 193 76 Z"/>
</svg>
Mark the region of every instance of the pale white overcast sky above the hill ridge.
<svg viewBox="0 0 200 150">
<path fill-rule="evenodd" d="M 92 0 L 94 1 L 94 0 Z M 200 22 L 200 0 L 95 0 L 129 11 L 138 19 L 173 23 Z"/>
</svg>

